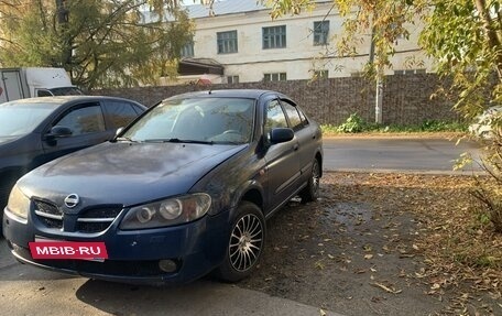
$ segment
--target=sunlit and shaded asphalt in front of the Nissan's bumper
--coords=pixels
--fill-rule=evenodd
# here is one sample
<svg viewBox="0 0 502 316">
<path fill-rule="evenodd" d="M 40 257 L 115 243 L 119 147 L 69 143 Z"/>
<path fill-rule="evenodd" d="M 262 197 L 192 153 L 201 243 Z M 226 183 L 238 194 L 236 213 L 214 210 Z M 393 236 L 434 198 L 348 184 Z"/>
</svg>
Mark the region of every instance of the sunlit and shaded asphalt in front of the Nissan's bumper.
<svg viewBox="0 0 502 316">
<path fill-rule="evenodd" d="M 18 263 L 0 238 L 0 315 L 340 315 L 203 279 L 176 287 L 133 286 Z"/>
</svg>

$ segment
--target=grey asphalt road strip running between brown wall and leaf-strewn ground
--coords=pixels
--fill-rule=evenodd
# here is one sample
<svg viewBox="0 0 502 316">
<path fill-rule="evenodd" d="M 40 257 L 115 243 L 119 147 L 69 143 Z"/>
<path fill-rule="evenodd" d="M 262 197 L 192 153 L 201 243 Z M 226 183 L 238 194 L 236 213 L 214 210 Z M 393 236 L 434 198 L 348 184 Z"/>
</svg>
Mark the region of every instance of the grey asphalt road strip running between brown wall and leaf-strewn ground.
<svg viewBox="0 0 502 316">
<path fill-rule="evenodd" d="M 471 174 L 479 172 L 479 145 L 470 141 L 425 138 L 324 139 L 325 171 L 416 172 Z M 469 153 L 473 164 L 454 171 L 456 160 Z"/>
</svg>

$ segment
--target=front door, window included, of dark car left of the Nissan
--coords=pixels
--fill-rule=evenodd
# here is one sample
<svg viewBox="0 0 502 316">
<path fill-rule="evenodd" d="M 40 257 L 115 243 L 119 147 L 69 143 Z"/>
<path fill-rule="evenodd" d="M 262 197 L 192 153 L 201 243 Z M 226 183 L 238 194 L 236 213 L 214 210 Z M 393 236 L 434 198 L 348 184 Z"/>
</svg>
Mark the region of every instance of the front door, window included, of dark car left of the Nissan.
<svg viewBox="0 0 502 316">
<path fill-rule="evenodd" d="M 51 138 L 52 127 L 61 126 L 72 130 L 72 135 Z M 105 117 L 99 102 L 77 103 L 57 116 L 43 135 L 44 162 L 77 150 L 102 143 L 110 139 L 112 131 L 106 130 Z"/>
</svg>

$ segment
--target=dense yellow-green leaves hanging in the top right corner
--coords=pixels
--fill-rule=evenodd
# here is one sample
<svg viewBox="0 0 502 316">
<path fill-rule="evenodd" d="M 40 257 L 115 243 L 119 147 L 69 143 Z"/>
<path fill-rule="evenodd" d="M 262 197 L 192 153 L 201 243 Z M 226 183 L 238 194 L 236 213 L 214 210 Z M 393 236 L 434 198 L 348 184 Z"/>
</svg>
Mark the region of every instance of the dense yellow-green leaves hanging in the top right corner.
<svg viewBox="0 0 502 316">
<path fill-rule="evenodd" d="M 471 119 L 502 101 L 502 13 L 500 1 L 435 1 L 421 44 L 452 78 L 456 108 Z M 498 79 L 496 79 L 498 76 Z"/>
</svg>

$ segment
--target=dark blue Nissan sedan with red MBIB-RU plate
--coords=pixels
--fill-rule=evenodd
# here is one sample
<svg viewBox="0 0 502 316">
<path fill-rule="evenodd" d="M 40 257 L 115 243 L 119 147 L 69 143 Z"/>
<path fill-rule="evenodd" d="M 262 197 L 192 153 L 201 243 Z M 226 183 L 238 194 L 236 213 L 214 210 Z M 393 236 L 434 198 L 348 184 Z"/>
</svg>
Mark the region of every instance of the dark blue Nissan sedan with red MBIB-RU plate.
<svg viewBox="0 0 502 316">
<path fill-rule="evenodd" d="M 317 199 L 318 124 L 268 90 L 175 96 L 109 142 L 30 172 L 3 232 L 21 262 L 87 277 L 171 284 L 248 276 L 265 219 Z"/>
</svg>

